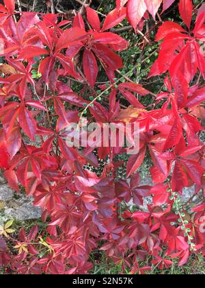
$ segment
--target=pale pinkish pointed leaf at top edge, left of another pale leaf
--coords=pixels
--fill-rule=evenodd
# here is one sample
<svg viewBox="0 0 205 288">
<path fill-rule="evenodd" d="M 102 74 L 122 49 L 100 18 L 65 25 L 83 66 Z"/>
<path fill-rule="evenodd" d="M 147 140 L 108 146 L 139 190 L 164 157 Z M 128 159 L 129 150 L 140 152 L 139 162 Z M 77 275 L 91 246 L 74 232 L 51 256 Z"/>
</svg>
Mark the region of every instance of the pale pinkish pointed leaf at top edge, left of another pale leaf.
<svg viewBox="0 0 205 288">
<path fill-rule="evenodd" d="M 127 17 L 135 32 L 137 32 L 137 25 L 141 21 L 147 8 L 144 0 L 129 0 L 127 4 Z"/>
</svg>

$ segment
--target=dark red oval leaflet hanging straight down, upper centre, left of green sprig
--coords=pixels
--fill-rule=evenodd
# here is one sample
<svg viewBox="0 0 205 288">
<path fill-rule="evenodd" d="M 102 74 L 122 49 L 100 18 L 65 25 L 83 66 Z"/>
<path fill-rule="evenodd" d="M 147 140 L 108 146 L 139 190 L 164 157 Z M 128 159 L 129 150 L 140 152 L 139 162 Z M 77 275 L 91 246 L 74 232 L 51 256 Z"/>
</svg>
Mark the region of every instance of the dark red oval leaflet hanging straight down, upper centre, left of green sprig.
<svg viewBox="0 0 205 288">
<path fill-rule="evenodd" d="M 92 88 L 96 84 L 96 79 L 98 76 L 98 64 L 94 53 L 92 51 L 85 49 L 83 53 L 83 71 L 87 81 L 90 83 Z"/>
</svg>

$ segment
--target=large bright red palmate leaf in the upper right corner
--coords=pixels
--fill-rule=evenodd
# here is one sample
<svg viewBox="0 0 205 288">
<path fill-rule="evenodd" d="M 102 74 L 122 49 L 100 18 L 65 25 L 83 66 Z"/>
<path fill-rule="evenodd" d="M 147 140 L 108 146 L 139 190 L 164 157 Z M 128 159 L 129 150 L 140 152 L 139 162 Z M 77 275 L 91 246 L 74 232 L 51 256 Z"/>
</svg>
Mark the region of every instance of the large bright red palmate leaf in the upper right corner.
<svg viewBox="0 0 205 288">
<path fill-rule="evenodd" d="M 193 14 L 192 1 L 180 0 L 179 8 L 184 23 L 190 29 Z M 195 28 L 193 29 L 194 37 L 190 37 L 190 34 L 177 23 L 169 21 L 163 23 L 156 34 L 156 40 L 164 40 L 161 43 L 159 59 L 154 63 L 150 76 L 160 75 L 169 70 L 172 80 L 178 75 L 183 75 L 184 79 L 190 82 L 197 73 L 197 69 L 199 69 L 204 77 L 205 60 L 201 51 L 202 48 L 198 43 L 200 40 L 204 41 L 203 33 L 201 33 L 204 16 L 205 14 L 202 12 L 197 17 Z M 170 45 L 170 43 L 173 45 Z M 181 47 L 180 49 L 178 49 L 179 46 Z M 180 53 L 176 54 L 176 51 Z"/>
</svg>

